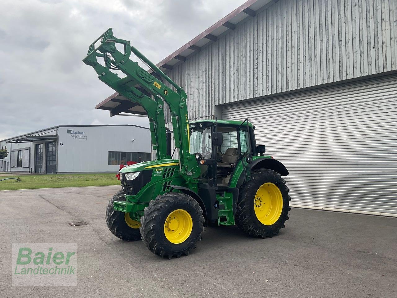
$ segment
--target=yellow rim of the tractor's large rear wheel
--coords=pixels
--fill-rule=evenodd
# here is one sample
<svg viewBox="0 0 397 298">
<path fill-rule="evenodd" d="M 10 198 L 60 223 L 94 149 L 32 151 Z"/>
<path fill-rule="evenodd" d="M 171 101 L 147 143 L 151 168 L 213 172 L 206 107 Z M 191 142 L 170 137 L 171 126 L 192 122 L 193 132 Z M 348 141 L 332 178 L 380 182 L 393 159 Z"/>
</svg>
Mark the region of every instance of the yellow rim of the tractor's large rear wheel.
<svg viewBox="0 0 397 298">
<path fill-rule="evenodd" d="M 283 195 L 276 184 L 262 184 L 255 194 L 254 210 L 258 221 L 266 226 L 278 221 L 283 211 Z"/>
</svg>

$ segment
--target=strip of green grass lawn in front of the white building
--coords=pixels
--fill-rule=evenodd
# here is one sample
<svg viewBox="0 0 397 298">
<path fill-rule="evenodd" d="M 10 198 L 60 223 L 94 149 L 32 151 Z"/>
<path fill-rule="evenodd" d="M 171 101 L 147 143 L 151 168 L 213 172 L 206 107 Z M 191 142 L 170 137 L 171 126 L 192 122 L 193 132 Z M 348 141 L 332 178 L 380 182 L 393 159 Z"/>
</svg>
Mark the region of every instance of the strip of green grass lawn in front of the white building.
<svg viewBox="0 0 397 298">
<path fill-rule="evenodd" d="M 32 174 L 0 176 L 4 178 L 20 178 L 17 180 L 0 181 L 0 190 L 23 190 L 27 188 L 57 188 L 77 186 L 120 185 L 116 174 Z"/>
</svg>

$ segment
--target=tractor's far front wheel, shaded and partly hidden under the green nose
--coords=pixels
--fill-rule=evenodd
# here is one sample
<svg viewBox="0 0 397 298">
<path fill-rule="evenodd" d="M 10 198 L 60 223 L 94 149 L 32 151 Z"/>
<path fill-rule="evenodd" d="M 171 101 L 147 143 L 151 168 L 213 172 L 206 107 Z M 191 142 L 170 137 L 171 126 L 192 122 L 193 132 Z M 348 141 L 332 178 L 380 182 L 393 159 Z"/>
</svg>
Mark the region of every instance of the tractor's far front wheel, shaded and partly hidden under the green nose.
<svg viewBox="0 0 397 298">
<path fill-rule="evenodd" d="M 141 223 L 131 219 L 129 213 L 114 210 L 114 201 L 125 201 L 122 190 L 114 194 L 106 207 L 105 219 L 110 232 L 122 240 L 134 241 L 141 239 L 141 233 L 139 232 Z"/>
</svg>

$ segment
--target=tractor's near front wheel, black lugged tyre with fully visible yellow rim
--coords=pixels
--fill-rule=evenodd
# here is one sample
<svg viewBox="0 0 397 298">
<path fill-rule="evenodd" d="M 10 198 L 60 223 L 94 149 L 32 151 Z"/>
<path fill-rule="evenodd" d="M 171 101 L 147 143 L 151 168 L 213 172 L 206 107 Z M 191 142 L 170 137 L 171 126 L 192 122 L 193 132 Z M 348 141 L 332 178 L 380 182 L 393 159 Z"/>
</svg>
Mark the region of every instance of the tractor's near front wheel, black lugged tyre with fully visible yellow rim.
<svg viewBox="0 0 397 298">
<path fill-rule="evenodd" d="M 142 241 L 152 253 L 162 257 L 188 255 L 201 240 L 203 222 L 202 209 L 191 196 L 158 195 L 141 217 Z"/>
</svg>

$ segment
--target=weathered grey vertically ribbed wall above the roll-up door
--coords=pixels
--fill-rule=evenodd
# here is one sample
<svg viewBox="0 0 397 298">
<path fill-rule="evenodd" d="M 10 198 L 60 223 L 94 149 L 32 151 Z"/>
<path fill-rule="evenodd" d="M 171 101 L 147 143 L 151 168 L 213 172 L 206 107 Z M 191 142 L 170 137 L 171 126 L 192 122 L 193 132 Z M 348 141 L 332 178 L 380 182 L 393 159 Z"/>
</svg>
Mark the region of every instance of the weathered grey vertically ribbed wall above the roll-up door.
<svg viewBox="0 0 397 298">
<path fill-rule="evenodd" d="M 280 0 L 167 73 L 197 119 L 216 104 L 396 69 L 396 0 Z"/>
</svg>

